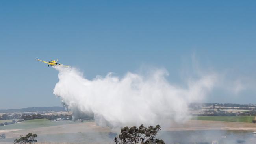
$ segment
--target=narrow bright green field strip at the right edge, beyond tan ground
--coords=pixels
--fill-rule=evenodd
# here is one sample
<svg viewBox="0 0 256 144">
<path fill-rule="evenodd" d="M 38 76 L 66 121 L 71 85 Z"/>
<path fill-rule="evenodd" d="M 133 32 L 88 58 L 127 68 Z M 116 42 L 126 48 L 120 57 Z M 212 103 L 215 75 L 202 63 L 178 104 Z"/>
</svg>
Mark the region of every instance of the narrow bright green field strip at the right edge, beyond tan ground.
<svg viewBox="0 0 256 144">
<path fill-rule="evenodd" d="M 255 116 L 195 116 L 192 120 L 213 120 L 224 122 L 252 122 Z"/>
</svg>

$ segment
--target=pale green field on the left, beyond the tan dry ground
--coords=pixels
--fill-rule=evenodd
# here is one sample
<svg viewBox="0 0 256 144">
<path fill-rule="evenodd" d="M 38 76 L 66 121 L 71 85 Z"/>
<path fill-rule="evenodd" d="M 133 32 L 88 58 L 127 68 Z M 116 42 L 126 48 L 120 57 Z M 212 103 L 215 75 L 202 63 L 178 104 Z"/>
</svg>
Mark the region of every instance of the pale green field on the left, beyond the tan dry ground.
<svg viewBox="0 0 256 144">
<path fill-rule="evenodd" d="M 89 121 L 84 121 L 89 122 Z M 48 119 L 35 119 L 35 120 L 26 120 L 23 122 L 10 124 L 7 126 L 1 126 L 0 130 L 4 129 L 31 129 L 31 128 L 38 128 L 38 127 L 49 127 L 49 126 L 58 126 L 64 124 L 75 124 L 80 123 L 80 121 L 71 121 L 71 120 L 64 120 L 64 121 L 50 121 Z"/>
</svg>

